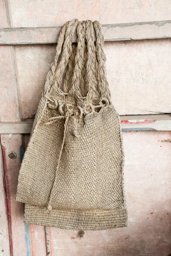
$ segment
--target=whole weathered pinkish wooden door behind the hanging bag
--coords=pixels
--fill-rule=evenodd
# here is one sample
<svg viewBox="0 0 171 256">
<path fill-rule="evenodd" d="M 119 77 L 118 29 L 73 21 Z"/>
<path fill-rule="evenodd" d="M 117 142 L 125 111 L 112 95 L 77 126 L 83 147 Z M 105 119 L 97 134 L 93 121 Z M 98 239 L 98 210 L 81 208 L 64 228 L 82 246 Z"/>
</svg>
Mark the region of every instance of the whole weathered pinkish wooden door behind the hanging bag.
<svg viewBox="0 0 171 256">
<path fill-rule="evenodd" d="M 170 255 L 170 1 L 1 0 L 0 10 L 0 256 Z M 75 17 L 103 24 L 128 206 L 128 227 L 86 231 L 82 239 L 77 231 L 24 224 L 24 205 L 15 201 L 58 32 Z"/>
</svg>

